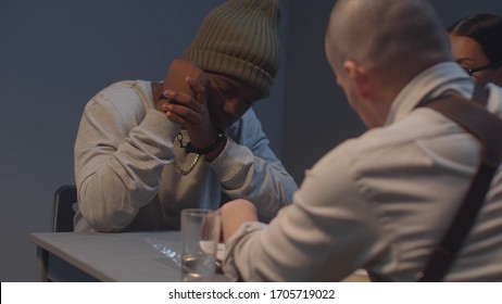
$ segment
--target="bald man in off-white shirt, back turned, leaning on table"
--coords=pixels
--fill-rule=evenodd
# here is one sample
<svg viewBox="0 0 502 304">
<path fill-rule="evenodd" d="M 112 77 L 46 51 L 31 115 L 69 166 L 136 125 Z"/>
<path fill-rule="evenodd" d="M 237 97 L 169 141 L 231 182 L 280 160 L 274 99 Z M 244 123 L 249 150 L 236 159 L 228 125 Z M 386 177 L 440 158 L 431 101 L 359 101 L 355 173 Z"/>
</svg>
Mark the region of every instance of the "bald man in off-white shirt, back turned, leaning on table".
<svg viewBox="0 0 502 304">
<path fill-rule="evenodd" d="M 268 225 L 256 220 L 251 202 L 224 205 L 224 271 L 244 281 L 338 281 L 365 268 L 414 281 L 479 163 L 473 136 L 415 106 L 445 93 L 469 99 L 474 84 L 452 61 L 426 1 L 338 0 L 325 50 L 369 130 L 319 160 Z M 488 89 L 487 109 L 500 117 L 502 90 Z M 501 177 L 499 170 L 444 280 L 502 280 Z"/>
</svg>

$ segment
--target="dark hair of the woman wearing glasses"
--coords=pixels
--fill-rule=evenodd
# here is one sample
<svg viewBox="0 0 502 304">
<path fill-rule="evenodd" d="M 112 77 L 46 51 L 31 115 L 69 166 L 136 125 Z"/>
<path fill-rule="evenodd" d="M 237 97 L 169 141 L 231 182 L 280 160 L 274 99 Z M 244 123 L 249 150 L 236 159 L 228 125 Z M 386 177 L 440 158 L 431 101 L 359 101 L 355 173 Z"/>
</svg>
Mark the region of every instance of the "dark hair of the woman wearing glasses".
<svg viewBox="0 0 502 304">
<path fill-rule="evenodd" d="M 502 63 L 502 17 L 470 15 L 452 24 L 448 33 L 476 40 L 491 63 Z"/>
</svg>

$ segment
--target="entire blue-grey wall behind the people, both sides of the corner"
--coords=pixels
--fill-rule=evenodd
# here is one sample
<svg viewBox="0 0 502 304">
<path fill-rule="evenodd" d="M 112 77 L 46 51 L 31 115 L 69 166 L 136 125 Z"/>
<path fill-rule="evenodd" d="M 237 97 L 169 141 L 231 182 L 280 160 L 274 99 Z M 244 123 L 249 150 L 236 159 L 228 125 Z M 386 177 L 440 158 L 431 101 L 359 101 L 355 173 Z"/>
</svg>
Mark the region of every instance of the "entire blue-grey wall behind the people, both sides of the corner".
<svg viewBox="0 0 502 304">
<path fill-rule="evenodd" d="M 53 192 L 73 182 L 85 103 L 116 80 L 161 79 L 221 2 L 0 0 L 0 281 L 35 279 L 28 235 L 50 229 Z M 502 14 L 500 0 L 434 2 L 445 24 Z M 332 3 L 283 0 L 285 59 L 272 96 L 256 106 L 298 182 L 329 149 L 364 131 L 324 55 Z"/>
</svg>

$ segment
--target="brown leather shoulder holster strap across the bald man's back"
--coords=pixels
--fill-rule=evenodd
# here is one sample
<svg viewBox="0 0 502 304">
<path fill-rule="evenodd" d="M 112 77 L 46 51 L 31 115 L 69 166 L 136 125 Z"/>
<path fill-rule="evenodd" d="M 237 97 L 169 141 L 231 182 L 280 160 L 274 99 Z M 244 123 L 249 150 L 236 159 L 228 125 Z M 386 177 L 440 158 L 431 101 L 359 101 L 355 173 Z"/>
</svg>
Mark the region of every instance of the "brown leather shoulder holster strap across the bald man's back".
<svg viewBox="0 0 502 304">
<path fill-rule="evenodd" d="M 450 96 L 418 104 L 418 106 L 427 106 L 440 112 L 481 142 L 481 162 L 478 172 L 441 243 L 435 248 L 426 267 L 418 274 L 419 281 L 441 281 L 443 279 L 461 249 L 463 240 L 474 226 L 476 216 L 490 188 L 491 179 L 500 165 L 502 159 L 502 119 L 485 109 L 487 100 L 488 92 L 476 87 L 473 100 Z"/>
</svg>

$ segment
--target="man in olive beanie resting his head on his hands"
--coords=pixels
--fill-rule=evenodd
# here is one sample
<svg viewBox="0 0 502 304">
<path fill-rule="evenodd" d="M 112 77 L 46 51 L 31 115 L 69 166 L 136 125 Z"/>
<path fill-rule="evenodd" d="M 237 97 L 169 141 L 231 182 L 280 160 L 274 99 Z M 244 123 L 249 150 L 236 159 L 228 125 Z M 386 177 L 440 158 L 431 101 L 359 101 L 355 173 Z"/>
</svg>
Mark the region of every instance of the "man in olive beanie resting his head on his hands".
<svg viewBox="0 0 502 304">
<path fill-rule="evenodd" d="M 177 229 L 179 212 L 255 202 L 267 223 L 291 176 L 251 105 L 279 64 L 277 0 L 228 0 L 203 20 L 164 81 L 120 81 L 86 105 L 75 143 L 75 231 Z"/>
</svg>

